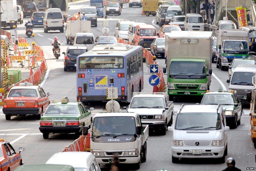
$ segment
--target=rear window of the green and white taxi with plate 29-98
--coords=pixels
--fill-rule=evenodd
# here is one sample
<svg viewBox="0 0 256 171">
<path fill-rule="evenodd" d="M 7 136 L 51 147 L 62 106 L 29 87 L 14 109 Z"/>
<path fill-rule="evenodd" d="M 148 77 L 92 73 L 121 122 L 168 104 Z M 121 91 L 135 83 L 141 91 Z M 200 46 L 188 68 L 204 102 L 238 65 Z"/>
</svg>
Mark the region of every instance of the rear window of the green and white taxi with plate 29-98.
<svg viewBox="0 0 256 171">
<path fill-rule="evenodd" d="M 77 105 L 50 105 L 45 114 L 80 114 L 80 112 Z"/>
</svg>

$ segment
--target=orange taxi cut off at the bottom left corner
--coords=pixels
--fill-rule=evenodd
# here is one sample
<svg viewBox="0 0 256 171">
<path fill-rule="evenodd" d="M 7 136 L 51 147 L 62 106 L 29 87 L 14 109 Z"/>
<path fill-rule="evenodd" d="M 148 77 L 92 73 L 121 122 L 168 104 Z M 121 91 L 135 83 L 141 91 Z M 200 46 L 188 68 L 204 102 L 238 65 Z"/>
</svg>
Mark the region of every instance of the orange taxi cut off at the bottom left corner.
<svg viewBox="0 0 256 171">
<path fill-rule="evenodd" d="M 24 151 L 24 148 L 20 147 L 19 151 Z M 16 153 L 8 141 L 0 139 L 0 171 L 14 170 L 23 165 L 20 152 Z"/>
</svg>

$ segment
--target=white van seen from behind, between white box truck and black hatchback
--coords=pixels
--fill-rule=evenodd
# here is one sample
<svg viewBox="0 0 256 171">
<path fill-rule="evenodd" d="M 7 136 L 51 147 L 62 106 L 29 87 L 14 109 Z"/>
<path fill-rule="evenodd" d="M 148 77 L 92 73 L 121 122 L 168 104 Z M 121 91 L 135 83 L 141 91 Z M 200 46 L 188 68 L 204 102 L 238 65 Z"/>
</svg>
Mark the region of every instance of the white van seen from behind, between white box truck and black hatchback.
<svg viewBox="0 0 256 171">
<path fill-rule="evenodd" d="M 73 46 L 86 46 L 88 51 L 92 50 L 95 46 L 94 35 L 92 33 L 77 33 L 73 41 Z"/>
</svg>

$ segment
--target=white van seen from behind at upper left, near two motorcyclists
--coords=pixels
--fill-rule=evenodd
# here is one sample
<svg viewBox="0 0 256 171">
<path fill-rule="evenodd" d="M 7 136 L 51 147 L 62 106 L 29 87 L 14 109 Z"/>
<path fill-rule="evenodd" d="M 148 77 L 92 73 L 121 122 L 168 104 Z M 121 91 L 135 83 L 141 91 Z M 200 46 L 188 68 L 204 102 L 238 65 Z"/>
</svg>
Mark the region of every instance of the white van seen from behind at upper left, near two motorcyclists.
<svg viewBox="0 0 256 171">
<path fill-rule="evenodd" d="M 64 33 L 64 18 L 60 8 L 48 8 L 44 14 L 44 32 L 60 30 Z"/>
</svg>

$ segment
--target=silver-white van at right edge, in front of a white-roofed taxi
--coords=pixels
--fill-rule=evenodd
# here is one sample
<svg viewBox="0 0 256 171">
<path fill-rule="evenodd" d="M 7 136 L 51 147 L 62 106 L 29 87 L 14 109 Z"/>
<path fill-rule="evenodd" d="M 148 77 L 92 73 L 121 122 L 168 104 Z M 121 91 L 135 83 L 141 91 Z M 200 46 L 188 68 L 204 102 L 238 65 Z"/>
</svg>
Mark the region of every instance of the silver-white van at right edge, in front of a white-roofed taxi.
<svg viewBox="0 0 256 171">
<path fill-rule="evenodd" d="M 255 72 L 256 65 L 241 64 L 236 67 L 231 79 L 227 79 L 228 90 L 234 90 L 241 103 L 250 103 L 247 101 L 247 92 L 251 92 L 253 89 L 252 77 L 255 77 Z"/>
</svg>

